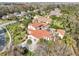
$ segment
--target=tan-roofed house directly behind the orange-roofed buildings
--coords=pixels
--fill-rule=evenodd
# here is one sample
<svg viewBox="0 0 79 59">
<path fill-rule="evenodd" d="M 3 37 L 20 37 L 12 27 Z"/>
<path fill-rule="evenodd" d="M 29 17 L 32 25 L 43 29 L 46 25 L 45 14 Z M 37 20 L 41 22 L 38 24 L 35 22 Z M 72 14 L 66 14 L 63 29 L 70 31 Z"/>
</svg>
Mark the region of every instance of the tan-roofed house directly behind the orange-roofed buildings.
<svg viewBox="0 0 79 59">
<path fill-rule="evenodd" d="M 43 16 L 35 16 L 32 23 L 47 23 L 50 24 L 51 23 L 51 19 L 48 17 L 43 17 Z"/>
</svg>

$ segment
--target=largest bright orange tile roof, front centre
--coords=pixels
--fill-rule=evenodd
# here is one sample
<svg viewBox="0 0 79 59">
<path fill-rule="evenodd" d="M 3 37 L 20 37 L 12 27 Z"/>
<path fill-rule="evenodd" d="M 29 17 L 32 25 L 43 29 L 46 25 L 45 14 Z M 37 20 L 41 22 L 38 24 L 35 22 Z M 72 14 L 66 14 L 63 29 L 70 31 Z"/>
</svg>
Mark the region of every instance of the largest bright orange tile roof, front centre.
<svg viewBox="0 0 79 59">
<path fill-rule="evenodd" d="M 46 30 L 31 30 L 31 35 L 36 38 L 51 37 L 51 33 Z"/>
</svg>

